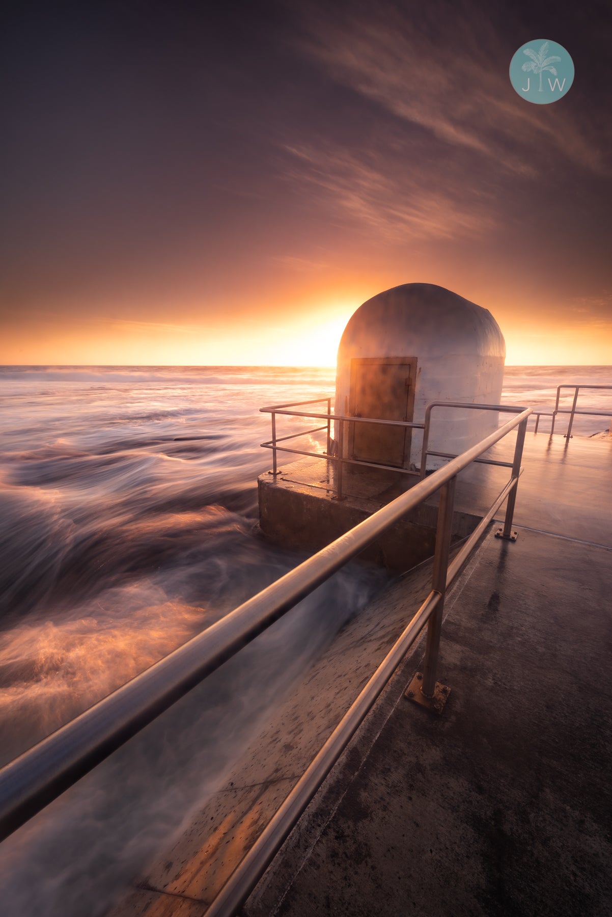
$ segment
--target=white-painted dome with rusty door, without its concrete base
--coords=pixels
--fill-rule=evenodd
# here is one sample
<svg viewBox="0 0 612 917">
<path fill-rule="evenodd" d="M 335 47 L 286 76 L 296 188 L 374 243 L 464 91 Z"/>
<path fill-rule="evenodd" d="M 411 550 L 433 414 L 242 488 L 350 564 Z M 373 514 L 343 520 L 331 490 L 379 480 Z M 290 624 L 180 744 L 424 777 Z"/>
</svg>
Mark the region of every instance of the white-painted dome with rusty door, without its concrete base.
<svg viewBox="0 0 612 917">
<path fill-rule="evenodd" d="M 479 305 L 432 283 L 405 283 L 361 305 L 338 348 L 335 414 L 421 423 L 428 403 L 498 404 L 506 345 Z M 429 447 L 458 454 L 496 429 L 490 411 L 437 409 Z M 419 468 L 421 430 L 346 424 L 345 458 Z M 443 459 L 429 458 L 428 468 Z"/>
</svg>

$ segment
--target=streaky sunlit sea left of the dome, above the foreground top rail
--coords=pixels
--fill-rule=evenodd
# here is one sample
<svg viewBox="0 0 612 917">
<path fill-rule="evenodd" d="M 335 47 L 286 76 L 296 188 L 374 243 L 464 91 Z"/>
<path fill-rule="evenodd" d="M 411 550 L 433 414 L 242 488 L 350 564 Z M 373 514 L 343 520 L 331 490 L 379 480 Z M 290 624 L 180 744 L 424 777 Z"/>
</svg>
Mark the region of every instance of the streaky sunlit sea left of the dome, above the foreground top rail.
<svg viewBox="0 0 612 917">
<path fill-rule="evenodd" d="M 257 408 L 296 387 L 316 395 L 331 374 L 0 378 L 5 763 L 295 564 L 253 536 L 270 458 Z"/>
</svg>

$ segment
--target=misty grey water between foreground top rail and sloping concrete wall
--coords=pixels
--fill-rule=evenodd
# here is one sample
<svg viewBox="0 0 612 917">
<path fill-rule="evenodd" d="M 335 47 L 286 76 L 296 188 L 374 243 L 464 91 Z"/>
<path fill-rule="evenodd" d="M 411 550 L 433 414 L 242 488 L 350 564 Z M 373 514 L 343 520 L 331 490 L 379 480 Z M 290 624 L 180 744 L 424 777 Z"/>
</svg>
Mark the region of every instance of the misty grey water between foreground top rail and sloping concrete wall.
<svg viewBox="0 0 612 917">
<path fill-rule="evenodd" d="M 286 569 L 286 563 L 268 562 L 265 579 L 275 580 Z M 5 841 L 0 866 L 5 912 L 103 914 L 169 845 L 190 812 L 223 785 L 228 768 L 291 684 L 358 613 L 380 579 L 359 568 L 335 574 Z M 110 669 L 118 674 L 113 665 Z M 118 669 L 125 674 L 123 665 Z M 86 668 L 76 677 L 72 687 L 78 691 Z M 67 697 L 70 678 L 62 677 Z"/>
</svg>

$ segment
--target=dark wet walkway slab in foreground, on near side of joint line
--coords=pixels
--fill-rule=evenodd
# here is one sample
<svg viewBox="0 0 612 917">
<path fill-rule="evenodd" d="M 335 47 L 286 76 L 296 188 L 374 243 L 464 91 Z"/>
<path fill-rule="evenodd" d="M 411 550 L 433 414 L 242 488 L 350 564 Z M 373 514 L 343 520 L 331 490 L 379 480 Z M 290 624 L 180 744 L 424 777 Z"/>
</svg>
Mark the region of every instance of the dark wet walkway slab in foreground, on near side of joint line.
<svg viewBox="0 0 612 917">
<path fill-rule="evenodd" d="M 245 914 L 607 917 L 610 594 L 606 547 L 489 535 L 449 596 L 442 716 L 403 696 L 413 654 Z"/>
</svg>

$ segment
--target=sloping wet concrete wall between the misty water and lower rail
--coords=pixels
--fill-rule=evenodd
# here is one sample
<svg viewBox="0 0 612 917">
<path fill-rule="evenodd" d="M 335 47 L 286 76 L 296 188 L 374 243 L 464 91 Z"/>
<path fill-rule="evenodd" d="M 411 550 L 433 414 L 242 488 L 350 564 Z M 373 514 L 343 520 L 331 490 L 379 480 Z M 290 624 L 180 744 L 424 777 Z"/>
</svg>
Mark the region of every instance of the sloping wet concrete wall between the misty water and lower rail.
<svg viewBox="0 0 612 917">
<path fill-rule="evenodd" d="M 220 785 L 108 917 L 205 913 L 431 589 L 430 562 L 339 629 L 279 698 Z"/>
</svg>

